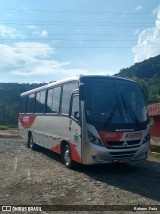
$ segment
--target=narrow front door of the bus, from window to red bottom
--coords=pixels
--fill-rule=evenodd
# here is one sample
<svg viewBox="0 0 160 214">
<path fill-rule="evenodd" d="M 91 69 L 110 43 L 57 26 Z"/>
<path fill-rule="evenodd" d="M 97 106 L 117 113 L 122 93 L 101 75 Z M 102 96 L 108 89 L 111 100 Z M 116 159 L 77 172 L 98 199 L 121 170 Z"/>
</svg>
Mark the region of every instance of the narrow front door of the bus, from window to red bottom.
<svg viewBox="0 0 160 214">
<path fill-rule="evenodd" d="M 69 132 L 72 159 L 81 163 L 81 126 L 78 94 L 73 94 L 71 97 Z"/>
</svg>

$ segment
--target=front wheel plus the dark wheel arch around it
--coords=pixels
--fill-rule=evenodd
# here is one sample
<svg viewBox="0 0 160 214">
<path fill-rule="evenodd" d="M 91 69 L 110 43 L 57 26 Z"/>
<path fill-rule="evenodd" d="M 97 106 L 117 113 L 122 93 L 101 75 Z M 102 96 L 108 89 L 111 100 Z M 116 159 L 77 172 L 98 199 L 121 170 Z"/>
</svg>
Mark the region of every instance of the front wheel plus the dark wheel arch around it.
<svg viewBox="0 0 160 214">
<path fill-rule="evenodd" d="M 73 168 L 74 163 L 72 160 L 71 149 L 67 141 L 61 142 L 61 156 L 62 156 L 62 161 L 64 165 L 67 168 Z"/>
</svg>

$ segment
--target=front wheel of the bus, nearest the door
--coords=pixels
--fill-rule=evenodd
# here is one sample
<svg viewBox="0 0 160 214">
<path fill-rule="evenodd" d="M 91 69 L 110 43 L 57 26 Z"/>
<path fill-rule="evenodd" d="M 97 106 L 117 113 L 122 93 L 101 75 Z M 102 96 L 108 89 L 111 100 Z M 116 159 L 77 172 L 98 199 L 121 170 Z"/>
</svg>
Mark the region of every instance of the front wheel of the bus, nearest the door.
<svg viewBox="0 0 160 214">
<path fill-rule="evenodd" d="M 67 167 L 67 168 L 72 168 L 73 167 L 73 161 L 71 159 L 71 150 L 69 148 L 69 145 L 66 144 L 63 148 L 63 162 L 64 162 L 64 165 Z"/>
</svg>

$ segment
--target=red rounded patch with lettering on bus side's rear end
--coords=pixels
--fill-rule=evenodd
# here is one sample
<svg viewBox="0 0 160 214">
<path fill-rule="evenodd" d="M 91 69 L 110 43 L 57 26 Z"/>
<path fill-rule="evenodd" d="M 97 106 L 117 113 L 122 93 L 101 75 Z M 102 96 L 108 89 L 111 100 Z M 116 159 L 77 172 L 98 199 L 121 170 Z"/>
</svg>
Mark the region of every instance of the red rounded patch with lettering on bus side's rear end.
<svg viewBox="0 0 160 214">
<path fill-rule="evenodd" d="M 35 115 L 20 115 L 19 121 L 24 128 L 30 128 L 36 119 Z"/>
</svg>

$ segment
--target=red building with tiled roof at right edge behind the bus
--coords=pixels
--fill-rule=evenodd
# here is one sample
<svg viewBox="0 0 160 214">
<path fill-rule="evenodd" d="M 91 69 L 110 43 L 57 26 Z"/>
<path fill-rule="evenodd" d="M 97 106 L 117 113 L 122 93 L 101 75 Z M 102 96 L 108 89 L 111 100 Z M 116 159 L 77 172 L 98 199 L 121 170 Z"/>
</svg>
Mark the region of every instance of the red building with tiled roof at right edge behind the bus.
<svg viewBox="0 0 160 214">
<path fill-rule="evenodd" d="M 160 103 L 149 105 L 148 115 L 153 118 L 151 136 L 160 137 Z"/>
</svg>

